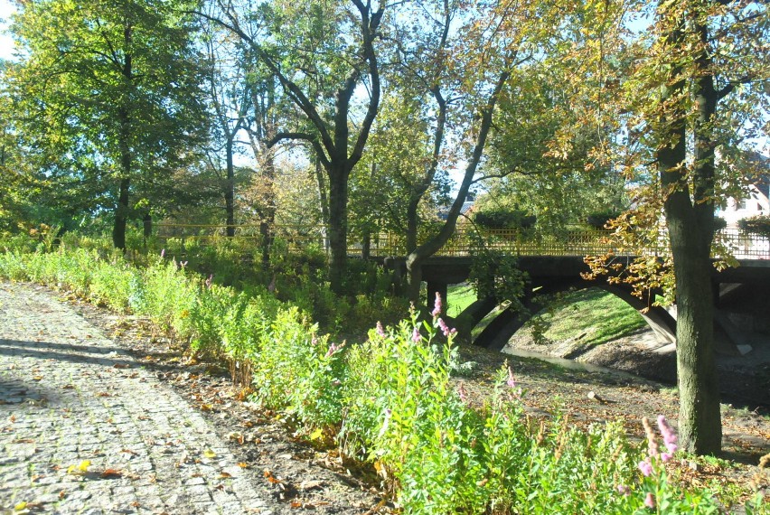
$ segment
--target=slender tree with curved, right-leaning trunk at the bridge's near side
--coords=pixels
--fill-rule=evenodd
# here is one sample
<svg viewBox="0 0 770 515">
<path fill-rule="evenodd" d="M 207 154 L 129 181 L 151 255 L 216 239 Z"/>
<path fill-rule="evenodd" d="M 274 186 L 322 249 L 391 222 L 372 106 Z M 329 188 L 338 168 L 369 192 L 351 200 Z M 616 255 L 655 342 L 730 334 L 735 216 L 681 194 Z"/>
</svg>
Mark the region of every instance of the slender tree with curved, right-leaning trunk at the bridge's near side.
<svg viewBox="0 0 770 515">
<path fill-rule="evenodd" d="M 409 21 L 395 34 L 399 62 L 404 73 L 412 77 L 412 88 L 430 99 L 434 121 L 426 166 L 408 202 L 409 223 L 414 225 L 418 202 L 437 171 L 447 166 L 443 150 L 447 141 L 458 141 L 461 152 L 457 162 L 465 163 L 465 169 L 437 232 L 418 242 L 416 231 L 411 226 L 408 229 L 408 296 L 414 300 L 419 293 L 422 263 L 455 232 L 467 194 L 478 181 L 476 173 L 483 162 L 497 104 L 508 93 L 514 70 L 535 59 L 553 14 L 549 5 L 528 2 L 465 5 L 446 0 L 420 2 L 416 10 L 425 13 L 425 23 L 416 29 Z"/>
</svg>

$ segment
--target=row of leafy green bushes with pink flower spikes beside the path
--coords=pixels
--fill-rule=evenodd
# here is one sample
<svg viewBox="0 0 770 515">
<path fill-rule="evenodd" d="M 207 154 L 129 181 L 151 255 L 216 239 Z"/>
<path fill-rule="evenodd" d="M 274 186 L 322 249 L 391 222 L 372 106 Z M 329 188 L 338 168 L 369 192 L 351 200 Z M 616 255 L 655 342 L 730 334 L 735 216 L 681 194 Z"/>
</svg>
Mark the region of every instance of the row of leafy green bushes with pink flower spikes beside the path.
<svg viewBox="0 0 770 515">
<path fill-rule="evenodd" d="M 437 317 L 413 312 L 349 347 L 265 289 L 239 293 L 173 259 L 148 261 L 132 269 L 96 249 L 14 250 L 0 255 L 0 273 L 129 305 L 195 350 L 224 357 L 264 406 L 311 438 L 337 435 L 345 452 L 373 463 L 404 513 L 634 513 L 648 493 L 660 513 L 716 510 L 709 492 L 681 492 L 655 463 L 640 476 L 641 454 L 619 423 L 581 431 L 567 417 L 528 417 L 510 368 L 484 407 L 466 405 L 463 384 L 450 377 L 453 332 Z M 114 296 L 99 296 L 108 287 Z"/>
</svg>

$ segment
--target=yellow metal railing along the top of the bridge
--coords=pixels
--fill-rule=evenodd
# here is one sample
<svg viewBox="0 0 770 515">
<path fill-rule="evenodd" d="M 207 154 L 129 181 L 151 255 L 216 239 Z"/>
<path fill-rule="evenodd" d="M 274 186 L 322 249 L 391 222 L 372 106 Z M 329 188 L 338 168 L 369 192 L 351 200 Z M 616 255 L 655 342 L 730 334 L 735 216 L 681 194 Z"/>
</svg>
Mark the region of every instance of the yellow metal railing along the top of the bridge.
<svg viewBox="0 0 770 515">
<path fill-rule="evenodd" d="M 226 238 L 227 226 L 205 224 L 155 224 L 158 239 L 181 239 L 214 243 Z M 260 226 L 257 224 L 235 227 L 235 239 L 258 245 Z M 326 248 L 326 230 L 319 226 L 272 225 L 271 234 L 286 242 L 289 250 L 302 248 Z M 485 248 L 491 248 L 517 256 L 600 256 L 610 251 L 617 256 L 638 255 L 638 249 L 623 249 L 613 238 L 613 232 L 600 229 L 567 228 L 554 233 L 521 231 L 519 229 L 481 229 L 460 226 L 437 256 L 469 256 L 483 241 Z M 348 253 L 361 255 L 363 242 L 348 239 Z M 664 232 L 652 243 L 645 246 L 644 253 L 661 256 L 668 253 L 668 242 Z M 722 229 L 715 237 L 715 249 L 724 248 L 737 259 L 770 259 L 770 240 L 766 237 L 746 234 L 737 229 Z M 393 232 L 373 234 L 369 241 L 369 253 L 373 257 L 403 256 L 406 241 Z"/>
</svg>

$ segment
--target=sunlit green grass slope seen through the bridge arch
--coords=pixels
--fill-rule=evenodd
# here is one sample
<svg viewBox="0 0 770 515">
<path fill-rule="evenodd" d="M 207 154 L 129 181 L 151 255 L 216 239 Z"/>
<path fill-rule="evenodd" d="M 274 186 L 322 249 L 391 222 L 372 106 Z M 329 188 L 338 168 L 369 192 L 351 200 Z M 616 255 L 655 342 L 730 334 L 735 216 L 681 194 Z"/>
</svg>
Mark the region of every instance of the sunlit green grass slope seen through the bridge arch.
<svg viewBox="0 0 770 515">
<path fill-rule="evenodd" d="M 561 295 L 540 315 L 548 323 L 546 338 L 576 339 L 587 348 L 627 336 L 646 324 L 633 307 L 599 288 Z"/>
</svg>

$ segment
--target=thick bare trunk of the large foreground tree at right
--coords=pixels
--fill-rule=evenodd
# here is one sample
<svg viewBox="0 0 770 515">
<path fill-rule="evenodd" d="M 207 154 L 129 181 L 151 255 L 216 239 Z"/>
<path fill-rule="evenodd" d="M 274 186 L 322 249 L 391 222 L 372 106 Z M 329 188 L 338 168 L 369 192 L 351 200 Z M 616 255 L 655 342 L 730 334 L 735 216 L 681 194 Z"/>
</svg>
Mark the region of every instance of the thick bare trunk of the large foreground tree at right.
<svg viewBox="0 0 770 515">
<path fill-rule="evenodd" d="M 673 28 L 664 34 L 663 42 L 671 51 L 676 51 L 685 43 L 685 23 L 681 18 L 670 20 L 670 23 Z M 672 53 L 675 52 L 669 54 Z M 705 55 L 700 56 L 700 59 L 704 58 Z M 684 94 L 687 79 L 681 76 L 682 72 L 681 66 L 671 67 L 670 85 L 664 92 L 664 99 Z M 674 108 L 672 113 L 662 115 L 657 158 L 676 284 L 681 446 L 696 454 L 717 454 L 721 450 L 722 427 L 714 356 L 710 259 L 714 224 L 714 205 L 710 200 L 714 188 L 714 155 L 707 137 L 710 135 L 707 126 L 716 108 L 716 93 L 713 82 L 706 84 L 702 78 L 696 79 L 696 88 L 699 119 L 695 129 L 692 183 L 688 181 L 687 122 L 683 108 Z"/>
</svg>

